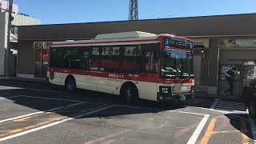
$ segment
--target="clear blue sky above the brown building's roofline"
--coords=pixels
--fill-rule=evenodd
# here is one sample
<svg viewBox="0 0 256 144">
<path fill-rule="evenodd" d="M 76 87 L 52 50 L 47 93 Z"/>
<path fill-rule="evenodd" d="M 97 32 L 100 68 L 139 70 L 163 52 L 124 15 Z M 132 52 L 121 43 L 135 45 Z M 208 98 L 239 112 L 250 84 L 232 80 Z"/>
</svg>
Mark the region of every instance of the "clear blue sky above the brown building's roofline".
<svg viewBox="0 0 256 144">
<path fill-rule="evenodd" d="M 1 1 L 1 0 L 0 0 Z M 128 19 L 129 0 L 14 0 L 19 13 L 42 24 Z M 256 0 L 138 0 L 138 18 L 256 13 Z"/>
</svg>

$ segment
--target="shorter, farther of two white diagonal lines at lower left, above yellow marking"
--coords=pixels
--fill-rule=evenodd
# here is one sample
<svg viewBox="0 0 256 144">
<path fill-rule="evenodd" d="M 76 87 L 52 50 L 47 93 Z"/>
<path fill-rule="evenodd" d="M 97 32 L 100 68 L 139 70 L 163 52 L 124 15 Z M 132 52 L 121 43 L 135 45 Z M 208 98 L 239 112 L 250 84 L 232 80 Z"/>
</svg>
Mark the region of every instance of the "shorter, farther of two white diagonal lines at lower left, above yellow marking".
<svg viewBox="0 0 256 144">
<path fill-rule="evenodd" d="M 35 114 L 42 114 L 42 113 L 46 113 L 46 112 L 50 112 L 50 111 L 54 111 L 54 110 L 59 110 L 59 109 L 70 107 L 70 106 L 77 106 L 77 105 L 80 105 L 82 103 L 86 103 L 86 102 L 74 103 L 74 104 L 71 104 L 71 105 L 68 105 L 68 106 L 59 106 L 59 107 L 56 107 L 56 108 L 50 109 L 50 110 L 38 111 L 38 112 L 35 112 L 35 113 L 30 113 L 30 114 L 24 114 L 24 115 L 20 115 L 18 117 L 14 117 L 14 118 L 7 118 L 7 119 L 4 119 L 4 120 L 1 120 L 0 123 L 7 122 L 7 121 L 12 121 L 12 120 L 15 120 L 15 119 L 18 119 L 18 118 L 25 118 L 25 117 L 35 115 Z"/>
</svg>

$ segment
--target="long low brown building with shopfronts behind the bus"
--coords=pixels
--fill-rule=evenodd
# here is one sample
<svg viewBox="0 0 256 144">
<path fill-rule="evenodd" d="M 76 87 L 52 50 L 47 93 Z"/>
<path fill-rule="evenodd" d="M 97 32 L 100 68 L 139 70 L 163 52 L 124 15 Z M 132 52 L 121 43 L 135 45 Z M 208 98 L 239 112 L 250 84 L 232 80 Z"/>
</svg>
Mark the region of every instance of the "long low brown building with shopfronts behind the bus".
<svg viewBox="0 0 256 144">
<path fill-rule="evenodd" d="M 225 72 L 238 71 L 234 94 L 256 78 L 256 14 L 231 14 L 138 21 L 89 22 L 18 27 L 17 76 L 46 78 L 46 48 L 34 42 L 93 39 L 97 34 L 145 31 L 175 34 L 194 41 L 195 89 L 212 97 L 224 97 Z M 236 98 L 231 97 L 231 98 Z"/>
</svg>

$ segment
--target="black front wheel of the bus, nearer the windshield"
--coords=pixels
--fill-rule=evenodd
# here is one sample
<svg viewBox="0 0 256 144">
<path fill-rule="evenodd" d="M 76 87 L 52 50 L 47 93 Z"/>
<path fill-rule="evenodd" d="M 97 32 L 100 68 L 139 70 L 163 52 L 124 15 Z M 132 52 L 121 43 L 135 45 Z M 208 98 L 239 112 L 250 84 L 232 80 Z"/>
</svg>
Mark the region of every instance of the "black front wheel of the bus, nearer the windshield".
<svg viewBox="0 0 256 144">
<path fill-rule="evenodd" d="M 135 86 L 126 85 L 122 89 L 122 99 L 126 103 L 134 103 L 138 100 L 138 90 Z"/>
</svg>

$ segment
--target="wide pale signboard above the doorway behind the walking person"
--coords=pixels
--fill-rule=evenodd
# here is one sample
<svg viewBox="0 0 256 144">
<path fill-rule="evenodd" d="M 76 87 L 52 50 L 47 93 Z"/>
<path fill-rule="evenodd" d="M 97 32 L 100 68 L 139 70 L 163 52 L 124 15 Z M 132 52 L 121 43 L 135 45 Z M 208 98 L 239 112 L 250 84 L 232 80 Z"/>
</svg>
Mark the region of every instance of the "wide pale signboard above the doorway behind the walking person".
<svg viewBox="0 0 256 144">
<path fill-rule="evenodd" d="M 256 48 L 256 38 L 222 38 L 219 47 Z"/>
</svg>

